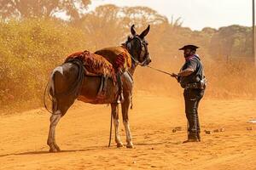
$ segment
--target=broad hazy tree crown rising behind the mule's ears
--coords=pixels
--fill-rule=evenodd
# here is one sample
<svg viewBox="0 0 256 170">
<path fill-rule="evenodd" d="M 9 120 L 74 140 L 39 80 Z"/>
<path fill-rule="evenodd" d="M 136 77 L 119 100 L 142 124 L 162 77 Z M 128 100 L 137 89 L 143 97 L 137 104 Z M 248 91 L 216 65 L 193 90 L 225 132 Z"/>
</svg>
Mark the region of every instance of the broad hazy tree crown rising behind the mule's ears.
<svg viewBox="0 0 256 170">
<path fill-rule="evenodd" d="M 133 24 L 137 31 L 142 31 L 148 25 L 153 26 L 153 28 L 154 25 L 168 25 L 168 20 L 151 8 L 120 8 L 108 4 L 99 6 L 90 14 L 84 15 L 79 26 L 88 33 L 89 37 L 93 37 L 92 46 L 102 48 L 124 42 L 126 36 L 130 34 L 130 28 Z M 152 31 L 154 29 L 151 29 Z M 150 33 L 150 35 L 152 34 Z"/>
</svg>

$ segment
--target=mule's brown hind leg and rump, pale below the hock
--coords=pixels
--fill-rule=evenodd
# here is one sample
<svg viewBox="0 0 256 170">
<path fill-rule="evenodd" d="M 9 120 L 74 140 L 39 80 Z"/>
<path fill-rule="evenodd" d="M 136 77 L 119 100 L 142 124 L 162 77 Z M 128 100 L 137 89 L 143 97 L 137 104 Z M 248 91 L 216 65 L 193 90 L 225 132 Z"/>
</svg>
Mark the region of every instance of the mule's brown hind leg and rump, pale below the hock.
<svg viewBox="0 0 256 170">
<path fill-rule="evenodd" d="M 79 65 L 79 66 L 78 66 Z M 52 111 L 50 116 L 49 136 L 47 144 L 50 152 L 61 151 L 55 142 L 55 127 L 64 116 L 75 99 L 83 81 L 84 72 L 79 64 L 67 63 L 55 68 L 51 75 L 49 92 L 53 98 Z M 79 82 L 78 82 L 79 81 Z"/>
</svg>

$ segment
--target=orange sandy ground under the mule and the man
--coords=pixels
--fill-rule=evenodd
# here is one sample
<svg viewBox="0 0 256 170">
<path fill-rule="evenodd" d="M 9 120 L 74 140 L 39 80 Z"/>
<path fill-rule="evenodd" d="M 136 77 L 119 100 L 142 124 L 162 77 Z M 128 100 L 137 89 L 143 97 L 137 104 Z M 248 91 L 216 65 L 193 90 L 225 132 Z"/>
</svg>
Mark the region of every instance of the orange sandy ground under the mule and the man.
<svg viewBox="0 0 256 170">
<path fill-rule="evenodd" d="M 201 143 L 186 139 L 183 99 L 136 96 L 130 111 L 135 149 L 110 148 L 110 107 L 76 102 L 56 128 L 61 153 L 46 144 L 49 114 L 44 109 L 0 116 L 0 169 L 256 169 L 255 100 L 204 99 Z M 182 131 L 172 133 L 174 127 Z M 253 127 L 253 130 L 247 130 Z M 121 126 L 125 142 L 124 127 Z"/>
</svg>

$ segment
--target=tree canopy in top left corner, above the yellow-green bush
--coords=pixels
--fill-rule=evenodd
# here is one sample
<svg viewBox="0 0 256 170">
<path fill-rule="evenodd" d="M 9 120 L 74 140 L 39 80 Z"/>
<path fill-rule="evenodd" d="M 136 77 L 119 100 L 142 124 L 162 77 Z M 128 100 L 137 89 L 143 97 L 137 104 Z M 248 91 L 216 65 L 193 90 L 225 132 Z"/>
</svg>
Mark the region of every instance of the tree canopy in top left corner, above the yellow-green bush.
<svg viewBox="0 0 256 170">
<path fill-rule="evenodd" d="M 0 0 L 0 16 L 10 18 L 41 18 L 66 12 L 71 20 L 83 14 L 90 0 Z"/>
</svg>

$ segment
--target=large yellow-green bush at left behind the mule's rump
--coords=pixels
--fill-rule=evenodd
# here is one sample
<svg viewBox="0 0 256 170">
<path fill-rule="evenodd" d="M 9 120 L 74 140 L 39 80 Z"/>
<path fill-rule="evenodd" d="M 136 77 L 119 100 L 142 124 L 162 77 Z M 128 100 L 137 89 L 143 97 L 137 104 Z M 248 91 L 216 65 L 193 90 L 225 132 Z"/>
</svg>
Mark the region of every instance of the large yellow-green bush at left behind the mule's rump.
<svg viewBox="0 0 256 170">
<path fill-rule="evenodd" d="M 0 105 L 40 100 L 52 68 L 86 47 L 82 31 L 58 20 L 12 20 L 0 30 Z"/>
</svg>

